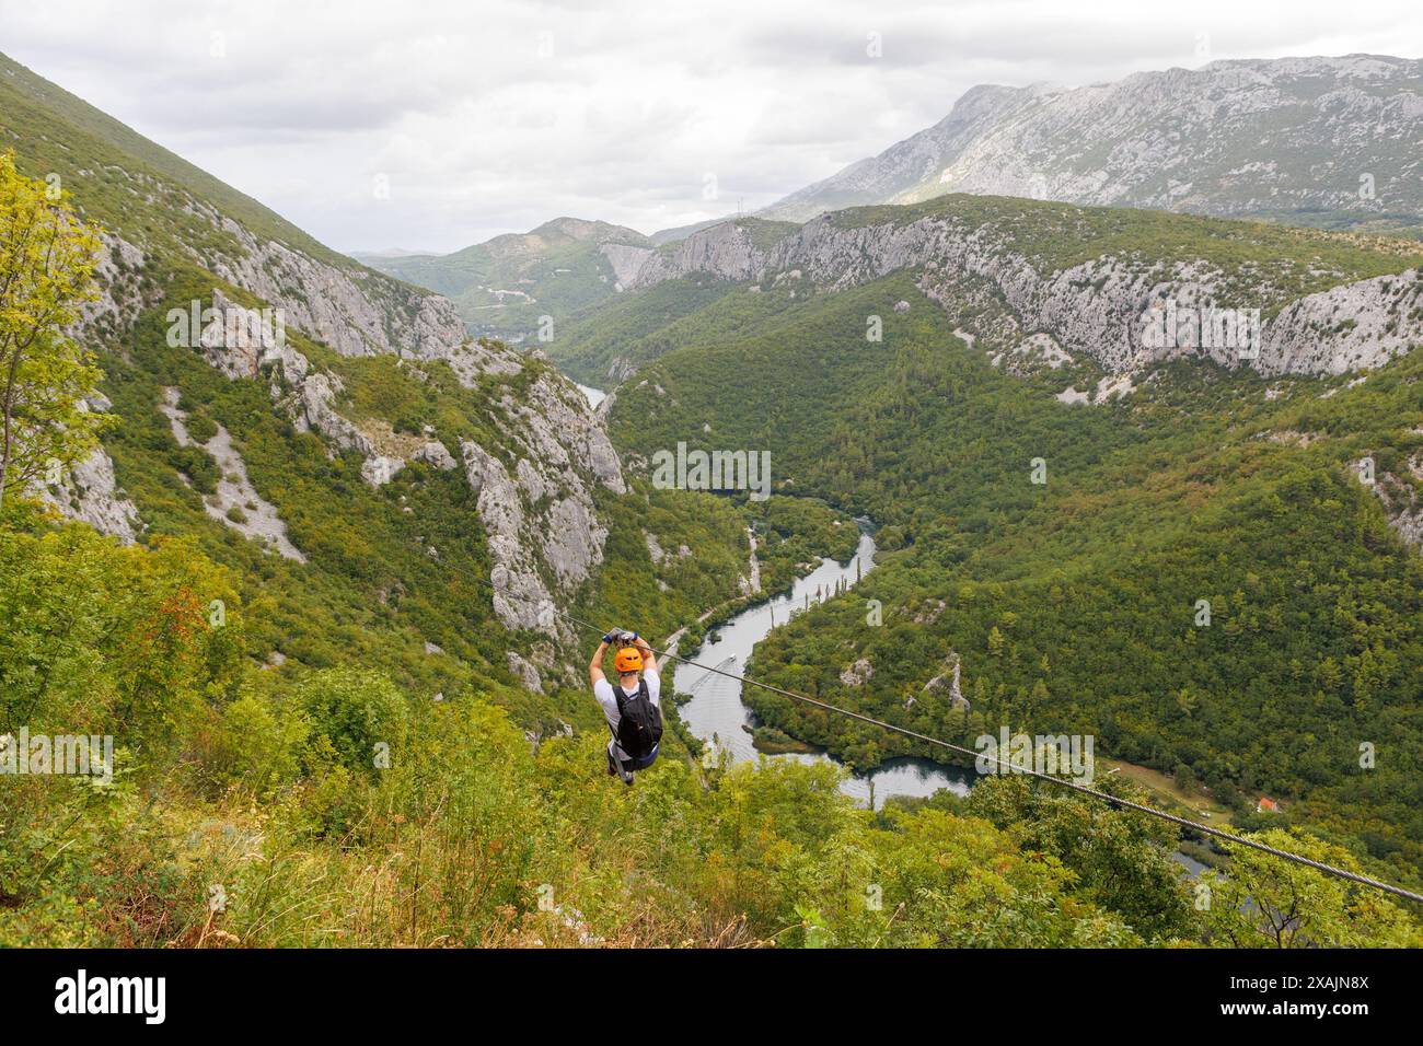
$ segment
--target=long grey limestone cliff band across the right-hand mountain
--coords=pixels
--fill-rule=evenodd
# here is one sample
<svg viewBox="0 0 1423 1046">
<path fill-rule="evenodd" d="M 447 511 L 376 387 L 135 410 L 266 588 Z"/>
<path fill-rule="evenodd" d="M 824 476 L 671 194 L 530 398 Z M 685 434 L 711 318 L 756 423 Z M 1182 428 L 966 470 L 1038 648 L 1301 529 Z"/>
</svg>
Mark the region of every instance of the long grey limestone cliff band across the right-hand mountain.
<svg viewBox="0 0 1423 1046">
<path fill-rule="evenodd" d="M 1342 374 L 1380 366 L 1423 342 L 1423 282 L 1416 260 L 1409 265 L 1417 253 L 1403 245 L 1379 260 L 1397 272 L 1356 279 L 1358 266 L 1345 260 L 1355 242 L 1322 233 L 1163 215 L 1160 235 L 1191 245 L 1161 248 L 1120 236 L 1121 219 L 1109 211 L 1012 201 L 995 201 L 988 212 L 983 206 L 951 199 L 847 211 L 770 245 L 746 223 L 724 222 L 650 253 L 630 285 L 649 287 L 693 272 L 754 283 L 797 273 L 837 290 L 918 269 L 925 293 L 949 309 L 975 286 L 1006 306 L 1013 320 L 1006 333 L 975 329 L 982 316 L 966 322 L 966 333 L 988 336 L 985 352 L 1083 354 L 1109 374 L 1133 374 L 1181 354 L 1261 374 Z M 1299 243 L 1292 242 L 1296 235 Z M 1242 263 L 1237 246 L 1249 236 L 1284 238 L 1291 253 Z M 1090 249 L 1093 241 L 1100 253 Z M 1044 243 L 1059 255 L 1064 243 L 1086 245 L 1077 253 L 1087 256 L 1057 262 L 1044 255 Z M 1244 330 L 1212 337 L 1184 327 L 1170 340 L 1154 339 L 1155 319 L 1167 309 L 1198 323 L 1210 323 L 1212 310 L 1258 313 L 1258 343 Z"/>
</svg>

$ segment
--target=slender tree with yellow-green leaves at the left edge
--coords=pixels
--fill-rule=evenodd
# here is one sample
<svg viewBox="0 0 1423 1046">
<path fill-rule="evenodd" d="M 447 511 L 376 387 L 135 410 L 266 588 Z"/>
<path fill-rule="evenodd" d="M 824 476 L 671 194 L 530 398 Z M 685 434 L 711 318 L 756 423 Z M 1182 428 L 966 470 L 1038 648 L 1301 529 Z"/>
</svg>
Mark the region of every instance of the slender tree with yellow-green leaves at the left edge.
<svg viewBox="0 0 1423 1046">
<path fill-rule="evenodd" d="M 110 418 L 88 410 L 101 373 L 64 327 L 88 299 L 98 235 L 63 194 L 0 155 L 0 505 L 92 450 Z"/>
</svg>

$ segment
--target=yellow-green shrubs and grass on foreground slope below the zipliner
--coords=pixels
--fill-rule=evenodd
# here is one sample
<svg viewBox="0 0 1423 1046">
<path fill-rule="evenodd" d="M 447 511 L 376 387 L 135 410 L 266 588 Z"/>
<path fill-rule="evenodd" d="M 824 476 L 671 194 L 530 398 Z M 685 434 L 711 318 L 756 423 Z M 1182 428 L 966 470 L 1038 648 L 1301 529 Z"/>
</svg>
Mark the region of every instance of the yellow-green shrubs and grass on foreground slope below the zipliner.
<svg viewBox="0 0 1423 1046">
<path fill-rule="evenodd" d="M 1158 823 L 1022 778 L 872 814 L 834 767 L 704 767 L 673 740 L 625 788 L 598 730 L 531 743 L 505 687 L 433 702 L 354 659 L 258 669 L 260 609 L 191 544 L 11 515 L 0 566 L 21 623 L 0 667 L 44 682 L 24 722 L 124 724 L 111 784 L 0 790 L 3 944 L 1420 944 L 1372 891 L 1252 852 L 1201 905 Z M 231 601 L 221 628 L 211 598 Z M 1247 895 L 1299 915 L 1275 925 Z"/>
</svg>

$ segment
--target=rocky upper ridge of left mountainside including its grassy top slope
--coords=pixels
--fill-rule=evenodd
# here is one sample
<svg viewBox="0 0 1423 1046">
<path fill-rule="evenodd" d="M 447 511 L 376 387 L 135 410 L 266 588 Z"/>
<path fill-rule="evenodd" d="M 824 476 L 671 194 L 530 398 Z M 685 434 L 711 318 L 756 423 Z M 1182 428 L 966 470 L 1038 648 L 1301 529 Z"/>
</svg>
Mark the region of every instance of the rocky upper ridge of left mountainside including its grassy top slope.
<svg viewBox="0 0 1423 1046">
<path fill-rule="evenodd" d="M 127 354 L 134 332 L 149 330 L 139 323 L 157 313 L 169 347 L 186 346 L 231 381 L 260 383 L 270 408 L 297 433 L 317 434 L 333 455 L 359 454 L 360 475 L 371 487 L 390 482 L 411 461 L 445 471 L 462 465 L 480 495 L 495 572 L 509 592 L 528 588 L 539 598 L 568 598 L 602 562 L 608 528 L 593 492 L 623 492 L 620 465 L 601 420 L 546 361 L 471 340 L 448 299 L 324 248 L 4 56 L 0 137 L 28 176 L 61 185 L 78 212 L 102 229 L 98 293 L 68 332 L 84 347 Z M 544 232 L 571 242 L 613 235 L 572 221 Z M 596 252 L 596 245 L 588 250 Z M 203 316 L 203 309 L 212 313 Z M 198 327 L 188 323 L 175 340 L 175 315 L 194 313 Z M 309 343 L 340 357 L 391 357 L 391 367 L 416 374 L 435 361 L 448 364 L 460 384 L 478 393 L 464 403 L 481 413 L 465 426 L 480 435 L 438 433 L 430 424 L 411 435 L 411 426 L 418 430 L 433 418 L 410 417 L 400 420 L 406 431 L 396 433 L 396 418 L 356 410 L 349 386 L 351 373 L 363 371 L 343 379 L 317 361 L 314 349 L 299 347 Z M 209 423 L 203 438 L 194 437 L 178 406 L 181 377 L 161 377 L 152 410 L 166 414 L 164 430 L 178 447 L 212 460 L 218 477 L 203 497 L 206 515 L 273 555 L 305 562 L 277 508 L 249 481 L 236 434 Z M 176 487 L 185 477 L 175 471 L 171 481 Z M 40 492 L 61 512 L 122 541 L 144 532 L 144 505 L 125 495 L 104 448 Z M 527 605 L 501 599 L 497 609 L 511 628 L 554 632 Z"/>
</svg>

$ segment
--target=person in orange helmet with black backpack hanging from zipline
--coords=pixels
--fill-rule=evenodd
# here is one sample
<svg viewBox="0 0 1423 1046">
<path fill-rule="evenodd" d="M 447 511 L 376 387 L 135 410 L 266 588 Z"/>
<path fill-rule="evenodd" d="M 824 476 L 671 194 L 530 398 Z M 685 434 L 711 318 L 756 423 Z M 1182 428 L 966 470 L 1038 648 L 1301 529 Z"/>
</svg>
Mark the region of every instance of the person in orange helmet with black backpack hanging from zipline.
<svg viewBox="0 0 1423 1046">
<path fill-rule="evenodd" d="M 603 656 L 615 642 L 618 686 L 603 676 Z M 657 676 L 657 657 L 636 632 L 610 632 L 603 636 L 588 663 L 588 676 L 613 734 L 608 741 L 608 773 L 622 777 L 623 784 L 632 784 L 635 771 L 646 770 L 656 761 L 657 743 L 662 740 L 662 677 Z"/>
</svg>

